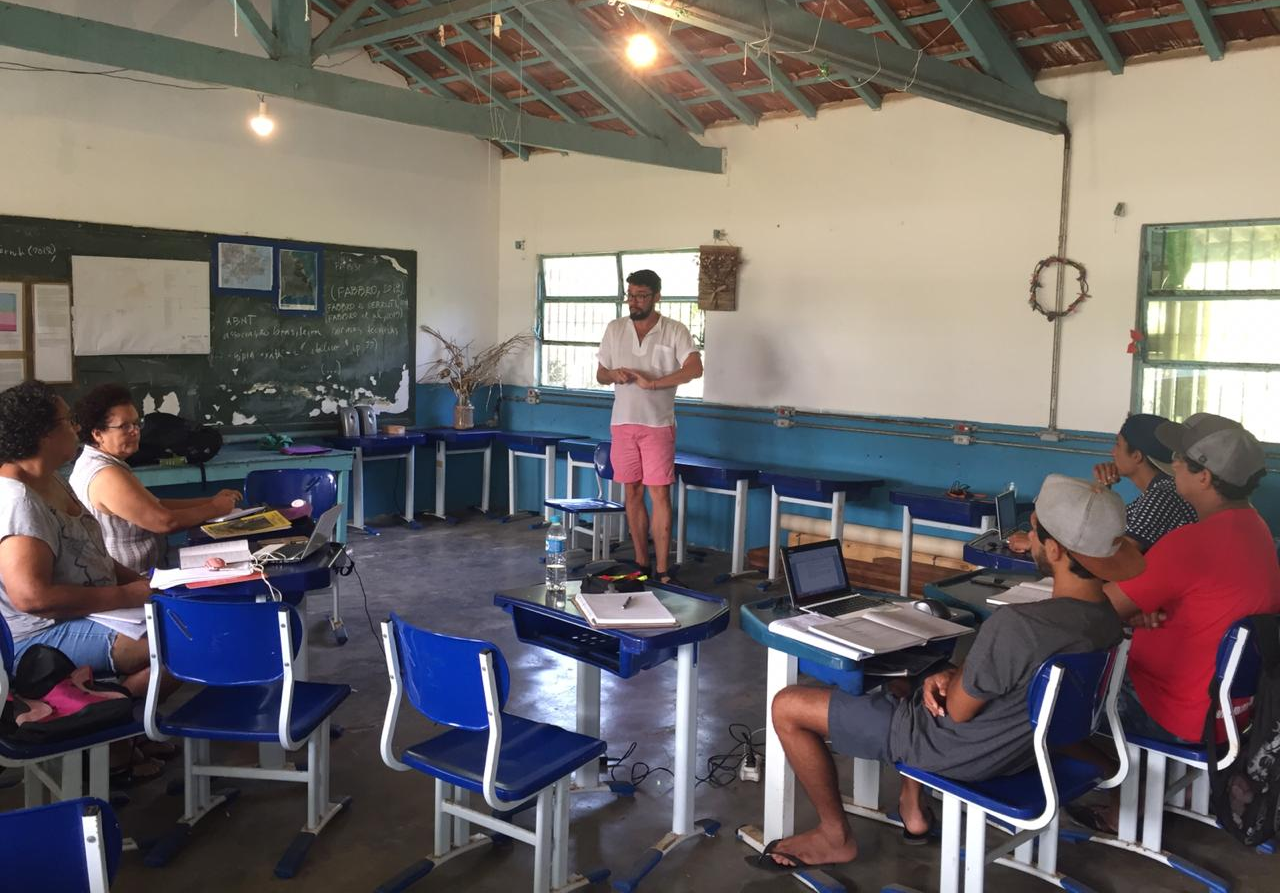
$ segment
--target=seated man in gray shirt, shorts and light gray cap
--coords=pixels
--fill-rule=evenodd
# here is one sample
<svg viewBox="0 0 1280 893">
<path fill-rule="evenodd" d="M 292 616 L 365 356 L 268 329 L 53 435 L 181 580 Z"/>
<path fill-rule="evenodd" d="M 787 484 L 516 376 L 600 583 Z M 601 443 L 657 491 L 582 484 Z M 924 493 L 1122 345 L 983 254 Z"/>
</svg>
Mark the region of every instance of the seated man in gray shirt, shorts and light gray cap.
<svg viewBox="0 0 1280 893">
<path fill-rule="evenodd" d="M 767 871 L 829 866 L 858 856 L 840 798 L 836 764 L 827 750 L 881 763 L 904 761 L 955 778 L 980 780 L 1034 764 L 1027 687 L 1055 654 L 1100 651 L 1116 645 L 1120 618 L 1103 581 L 1128 580 L 1143 568 L 1125 539 L 1124 502 L 1096 485 L 1062 475 L 1044 478 L 1032 514 L 1032 555 L 1053 577 L 1046 601 L 1007 605 L 982 624 L 961 668 L 924 679 L 906 697 L 877 691 L 791 686 L 773 699 L 773 725 L 787 761 L 818 810 L 818 826 L 771 842 L 749 861 Z M 918 782 L 902 779 L 902 837 L 924 843 L 933 816 Z"/>
</svg>

